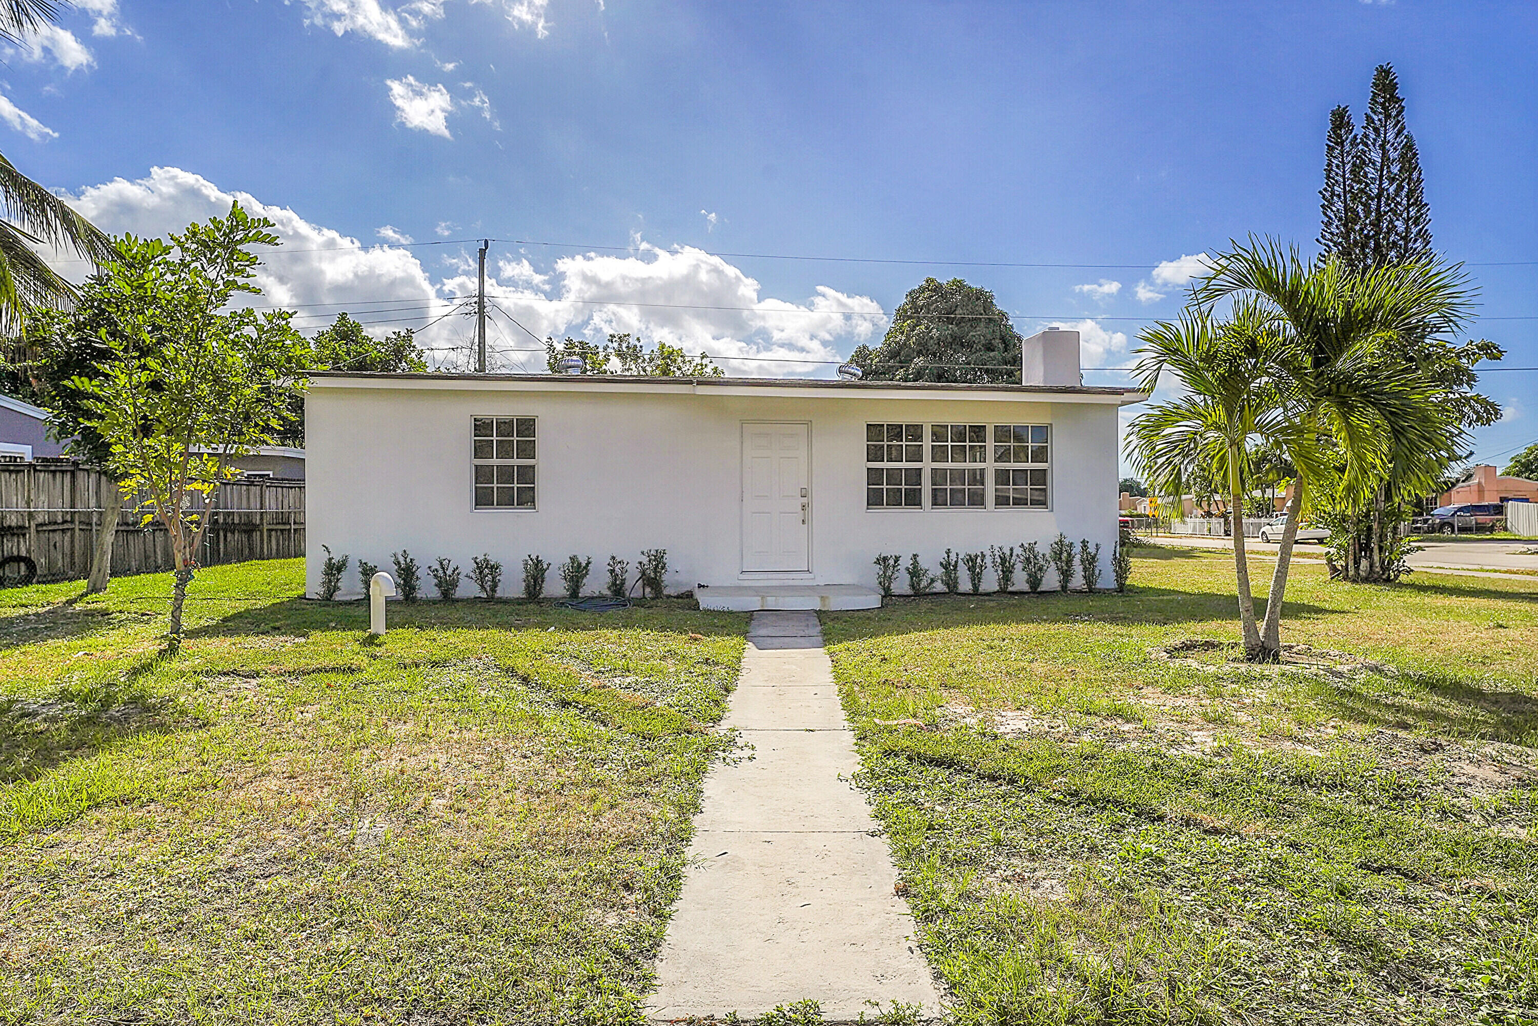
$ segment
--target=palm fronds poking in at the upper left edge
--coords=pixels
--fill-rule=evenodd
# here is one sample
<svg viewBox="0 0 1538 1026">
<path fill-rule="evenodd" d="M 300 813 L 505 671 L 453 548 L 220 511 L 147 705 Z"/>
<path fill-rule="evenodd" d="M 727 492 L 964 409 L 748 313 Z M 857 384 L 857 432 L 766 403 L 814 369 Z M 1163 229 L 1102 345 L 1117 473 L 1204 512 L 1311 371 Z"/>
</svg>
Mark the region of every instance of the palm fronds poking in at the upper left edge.
<svg viewBox="0 0 1538 1026">
<path fill-rule="evenodd" d="M 18 43 L 55 14 L 49 0 L 0 0 L 0 38 Z M 74 286 L 34 246 L 71 249 L 97 261 L 111 242 L 0 155 L 0 332 L 15 332 L 28 309 L 66 306 L 74 300 Z"/>
</svg>

